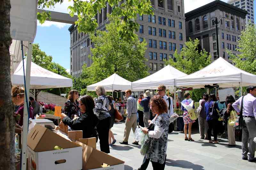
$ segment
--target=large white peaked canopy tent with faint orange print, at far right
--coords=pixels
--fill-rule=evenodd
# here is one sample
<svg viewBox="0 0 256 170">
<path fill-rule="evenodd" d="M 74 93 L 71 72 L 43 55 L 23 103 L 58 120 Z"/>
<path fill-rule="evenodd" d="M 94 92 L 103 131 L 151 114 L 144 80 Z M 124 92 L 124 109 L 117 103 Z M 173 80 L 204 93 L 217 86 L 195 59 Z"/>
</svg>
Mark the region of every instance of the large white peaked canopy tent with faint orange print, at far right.
<svg viewBox="0 0 256 170">
<path fill-rule="evenodd" d="M 175 81 L 176 86 L 193 88 L 214 84 L 219 87 L 256 85 L 256 75 L 240 70 L 220 57 L 207 67 Z"/>
</svg>

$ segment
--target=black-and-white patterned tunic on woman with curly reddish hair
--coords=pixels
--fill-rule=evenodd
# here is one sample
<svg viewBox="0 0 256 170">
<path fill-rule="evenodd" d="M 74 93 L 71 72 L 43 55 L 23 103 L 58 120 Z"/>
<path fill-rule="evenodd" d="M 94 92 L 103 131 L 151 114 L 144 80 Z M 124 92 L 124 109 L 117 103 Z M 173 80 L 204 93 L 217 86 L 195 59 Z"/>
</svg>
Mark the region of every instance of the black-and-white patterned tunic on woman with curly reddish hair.
<svg viewBox="0 0 256 170">
<path fill-rule="evenodd" d="M 159 162 L 160 164 L 164 164 L 165 154 L 167 150 L 169 116 L 168 114 L 163 113 L 159 115 L 156 119 L 152 120 L 151 123 L 155 124 L 154 131 L 156 131 L 156 133 L 162 130 L 163 132 L 161 132 L 162 134 L 158 139 L 150 137 L 151 135 L 148 134 L 150 144 L 146 153 L 146 158 L 150 159 L 153 162 Z"/>
</svg>

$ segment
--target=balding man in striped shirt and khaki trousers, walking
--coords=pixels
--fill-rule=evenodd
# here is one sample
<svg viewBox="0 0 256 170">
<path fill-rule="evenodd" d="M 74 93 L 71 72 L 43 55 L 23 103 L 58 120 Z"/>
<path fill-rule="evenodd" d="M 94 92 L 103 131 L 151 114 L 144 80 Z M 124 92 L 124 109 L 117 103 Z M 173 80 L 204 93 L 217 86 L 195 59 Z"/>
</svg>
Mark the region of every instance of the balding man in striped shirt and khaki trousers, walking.
<svg viewBox="0 0 256 170">
<path fill-rule="evenodd" d="M 125 120 L 125 128 L 124 128 L 124 139 L 119 142 L 120 144 L 128 144 L 128 138 L 131 132 L 135 133 L 135 129 L 137 128 L 137 102 L 132 97 L 132 91 L 126 90 L 125 97 L 127 98 L 126 102 L 126 120 Z M 138 141 L 132 142 L 132 144 L 139 145 Z"/>
</svg>

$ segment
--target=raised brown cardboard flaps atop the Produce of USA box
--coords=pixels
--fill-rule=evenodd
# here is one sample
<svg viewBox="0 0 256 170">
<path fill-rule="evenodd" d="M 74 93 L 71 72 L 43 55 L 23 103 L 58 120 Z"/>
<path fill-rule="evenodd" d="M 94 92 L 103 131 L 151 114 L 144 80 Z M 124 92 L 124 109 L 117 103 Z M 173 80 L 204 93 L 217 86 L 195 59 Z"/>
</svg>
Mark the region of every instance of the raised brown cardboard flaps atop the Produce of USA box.
<svg viewBox="0 0 256 170">
<path fill-rule="evenodd" d="M 27 139 L 28 146 L 35 152 L 52 151 L 54 146 L 59 146 L 63 149 L 80 146 L 37 124 L 30 131 Z"/>
</svg>

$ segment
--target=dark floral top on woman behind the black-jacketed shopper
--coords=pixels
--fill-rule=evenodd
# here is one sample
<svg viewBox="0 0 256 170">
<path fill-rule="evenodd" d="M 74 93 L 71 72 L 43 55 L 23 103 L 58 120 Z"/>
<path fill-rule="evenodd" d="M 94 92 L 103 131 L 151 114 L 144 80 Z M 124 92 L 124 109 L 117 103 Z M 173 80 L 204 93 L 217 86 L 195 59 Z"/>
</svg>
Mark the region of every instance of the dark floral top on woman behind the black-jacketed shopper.
<svg viewBox="0 0 256 170">
<path fill-rule="evenodd" d="M 79 102 L 71 102 L 67 100 L 64 106 L 64 114 L 67 115 L 70 119 L 74 119 L 74 116 L 77 115 L 78 117 L 81 116 L 81 111 L 79 106 Z"/>
</svg>

